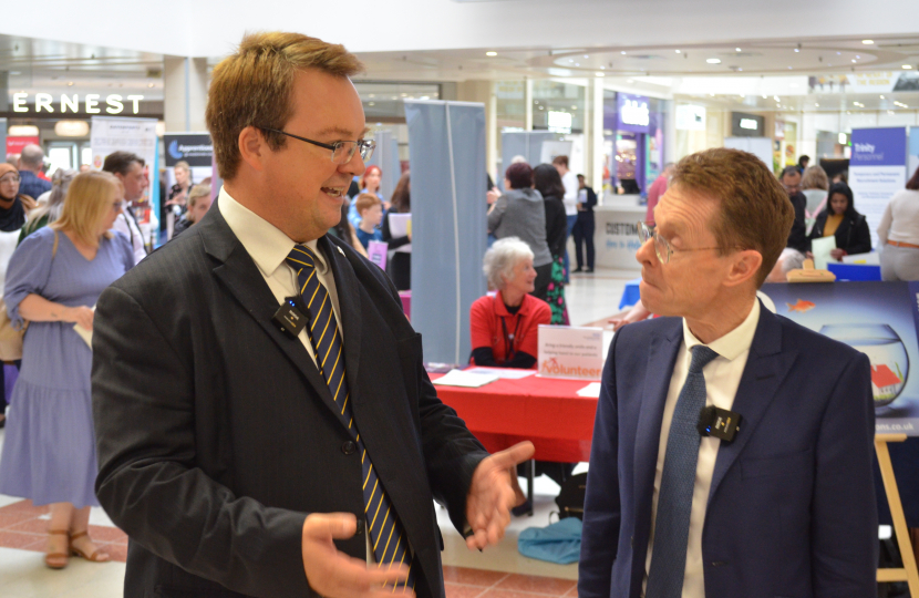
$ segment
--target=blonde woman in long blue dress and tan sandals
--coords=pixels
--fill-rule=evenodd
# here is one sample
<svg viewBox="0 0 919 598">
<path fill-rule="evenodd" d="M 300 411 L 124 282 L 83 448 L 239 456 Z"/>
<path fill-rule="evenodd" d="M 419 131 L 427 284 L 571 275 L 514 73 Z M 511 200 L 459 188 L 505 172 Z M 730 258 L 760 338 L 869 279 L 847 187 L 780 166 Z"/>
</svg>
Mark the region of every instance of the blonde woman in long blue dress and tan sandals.
<svg viewBox="0 0 919 598">
<path fill-rule="evenodd" d="M 23 239 L 7 269 L 4 300 L 14 324 L 29 321 L 22 370 L 10 400 L 0 494 L 51 505 L 45 564 L 71 554 L 109 560 L 86 534 L 99 503 L 89 333 L 100 293 L 134 265 L 127 238 L 112 233 L 121 213 L 109 173 L 74 177 L 61 217 Z M 87 337 L 89 338 L 89 337 Z"/>
</svg>

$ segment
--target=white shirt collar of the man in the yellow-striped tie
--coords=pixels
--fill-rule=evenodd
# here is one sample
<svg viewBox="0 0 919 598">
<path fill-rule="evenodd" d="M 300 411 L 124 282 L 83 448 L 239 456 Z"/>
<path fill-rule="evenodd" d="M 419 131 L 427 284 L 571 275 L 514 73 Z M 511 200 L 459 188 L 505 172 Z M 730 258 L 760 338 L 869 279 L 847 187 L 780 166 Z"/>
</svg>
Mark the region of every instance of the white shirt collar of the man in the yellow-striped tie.
<svg viewBox="0 0 919 598">
<path fill-rule="evenodd" d="M 275 270 L 285 265 L 285 259 L 296 244 L 281 229 L 234 199 L 227 193 L 226 187 L 220 187 L 217 206 L 230 230 L 246 248 L 262 276 L 271 276 Z M 307 241 L 304 245 L 316 254 L 317 269 L 320 275 L 324 275 L 329 265 L 326 256 L 317 247 L 317 239 Z"/>
</svg>

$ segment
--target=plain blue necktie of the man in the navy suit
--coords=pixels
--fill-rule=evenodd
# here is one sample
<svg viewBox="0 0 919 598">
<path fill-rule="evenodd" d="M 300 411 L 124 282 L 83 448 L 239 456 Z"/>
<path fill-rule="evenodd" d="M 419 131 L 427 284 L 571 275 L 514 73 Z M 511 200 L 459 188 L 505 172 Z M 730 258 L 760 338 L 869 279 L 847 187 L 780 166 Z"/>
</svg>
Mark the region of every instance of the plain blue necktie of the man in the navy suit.
<svg viewBox="0 0 919 598">
<path fill-rule="evenodd" d="M 689 375 L 673 410 L 658 496 L 654 547 L 646 598 L 680 598 L 683 594 L 692 493 L 701 440 L 695 425 L 699 412 L 705 406 L 702 368 L 716 357 L 717 353 L 704 344 L 692 348 Z"/>
</svg>

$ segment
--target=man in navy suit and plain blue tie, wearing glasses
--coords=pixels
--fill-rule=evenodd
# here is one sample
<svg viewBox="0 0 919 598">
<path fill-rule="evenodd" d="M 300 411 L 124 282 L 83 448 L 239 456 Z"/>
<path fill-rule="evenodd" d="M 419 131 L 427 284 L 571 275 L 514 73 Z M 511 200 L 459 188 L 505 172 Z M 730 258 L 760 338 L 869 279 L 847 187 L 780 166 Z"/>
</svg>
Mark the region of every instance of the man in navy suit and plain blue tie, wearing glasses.
<svg viewBox="0 0 919 598">
<path fill-rule="evenodd" d="M 756 299 L 793 218 L 752 154 L 677 165 L 638 252 L 669 317 L 603 370 L 579 598 L 875 596 L 868 358 Z"/>
</svg>

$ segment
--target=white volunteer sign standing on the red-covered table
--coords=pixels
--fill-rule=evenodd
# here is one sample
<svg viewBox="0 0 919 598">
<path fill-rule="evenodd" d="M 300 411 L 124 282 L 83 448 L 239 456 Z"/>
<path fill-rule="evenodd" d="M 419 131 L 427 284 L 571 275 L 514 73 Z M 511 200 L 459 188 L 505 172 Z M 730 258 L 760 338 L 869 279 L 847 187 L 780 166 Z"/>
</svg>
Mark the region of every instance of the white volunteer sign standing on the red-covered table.
<svg viewBox="0 0 919 598">
<path fill-rule="evenodd" d="M 536 374 L 541 378 L 599 380 L 603 371 L 603 330 L 540 326 Z"/>
</svg>

